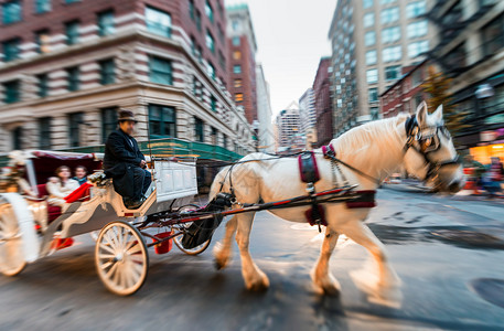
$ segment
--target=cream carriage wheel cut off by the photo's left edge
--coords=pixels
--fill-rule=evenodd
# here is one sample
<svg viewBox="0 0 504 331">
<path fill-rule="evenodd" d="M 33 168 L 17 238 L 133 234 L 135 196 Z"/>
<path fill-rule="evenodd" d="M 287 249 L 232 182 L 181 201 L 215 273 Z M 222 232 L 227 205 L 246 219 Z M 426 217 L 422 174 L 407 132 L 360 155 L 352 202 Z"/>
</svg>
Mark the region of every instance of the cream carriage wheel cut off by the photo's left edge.
<svg viewBox="0 0 504 331">
<path fill-rule="evenodd" d="M 0 204 L 0 273 L 15 276 L 26 266 L 23 242 L 14 209 L 8 202 Z"/>
</svg>

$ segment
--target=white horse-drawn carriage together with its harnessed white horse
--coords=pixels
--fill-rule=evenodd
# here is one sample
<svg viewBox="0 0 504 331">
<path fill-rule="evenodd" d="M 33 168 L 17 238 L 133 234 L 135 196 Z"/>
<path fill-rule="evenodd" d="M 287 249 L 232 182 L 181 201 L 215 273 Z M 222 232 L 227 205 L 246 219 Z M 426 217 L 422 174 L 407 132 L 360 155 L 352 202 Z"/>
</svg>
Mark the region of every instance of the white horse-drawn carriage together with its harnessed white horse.
<svg viewBox="0 0 504 331">
<path fill-rule="evenodd" d="M 47 175 L 44 167 L 51 162 L 89 162 L 84 166 L 100 168 L 95 154 L 32 151 L 24 159 L 24 177 L 34 190 L 43 189 L 36 184 L 40 177 Z M 90 177 L 89 196 L 79 196 L 51 223 L 44 223 L 49 214 L 41 191 L 36 192 L 37 199 L 0 193 L 0 271 L 17 275 L 26 263 L 67 245 L 61 241 L 100 229 L 95 248 L 97 273 L 110 291 L 131 295 L 146 280 L 148 247 L 167 253 L 174 241 L 185 253 L 199 254 L 208 246 L 223 217 L 236 215 L 226 224 L 223 244 L 214 249 L 216 266 L 224 268 L 228 264 L 236 235 L 246 287 L 267 288 L 269 280 L 254 263 L 248 247 L 255 212 L 268 210 L 289 221 L 308 221 L 319 231 L 325 225 L 321 255 L 312 271 L 315 288 L 326 293 L 339 291 L 329 259 L 339 235 L 345 234 L 367 248 L 377 265 L 372 277 L 352 275 L 357 287 L 369 298 L 395 300 L 400 297 L 399 279 L 383 244 L 363 223 L 375 206 L 376 189 L 401 167 L 433 183 L 439 191 L 454 193 L 464 184 L 457 151 L 442 120 L 442 107 L 429 115 L 425 103 L 416 115 L 363 125 L 329 146 L 297 158 L 254 153 L 229 163 L 217 173 L 211 201 L 202 207 L 190 204 L 197 193 L 194 159 L 150 161 L 153 182 L 137 210 L 125 206 L 111 180 L 100 172 Z M 53 169 L 55 164 L 51 172 Z"/>
</svg>

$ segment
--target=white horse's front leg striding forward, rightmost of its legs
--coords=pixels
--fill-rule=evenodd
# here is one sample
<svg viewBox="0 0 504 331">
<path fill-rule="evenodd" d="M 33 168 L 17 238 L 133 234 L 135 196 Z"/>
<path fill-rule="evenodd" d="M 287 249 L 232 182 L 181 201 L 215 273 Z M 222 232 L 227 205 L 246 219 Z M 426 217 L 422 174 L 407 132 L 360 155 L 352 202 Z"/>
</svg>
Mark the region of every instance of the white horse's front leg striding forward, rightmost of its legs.
<svg viewBox="0 0 504 331">
<path fill-rule="evenodd" d="M 373 275 L 366 270 L 351 273 L 355 285 L 368 293 L 371 300 L 385 305 L 396 305 L 395 302 L 400 301 L 400 292 L 398 290 L 400 279 L 388 263 L 385 246 L 382 242 L 361 221 L 350 223 L 342 228 L 342 233 L 366 248 L 377 264 L 377 275 Z"/>
</svg>

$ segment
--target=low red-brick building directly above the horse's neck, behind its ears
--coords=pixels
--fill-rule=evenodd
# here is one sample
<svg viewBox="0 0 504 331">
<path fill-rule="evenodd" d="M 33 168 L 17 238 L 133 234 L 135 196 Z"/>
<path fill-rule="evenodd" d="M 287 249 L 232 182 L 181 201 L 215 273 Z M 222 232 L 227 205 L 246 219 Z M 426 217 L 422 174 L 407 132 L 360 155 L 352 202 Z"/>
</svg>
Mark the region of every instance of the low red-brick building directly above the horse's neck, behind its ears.
<svg viewBox="0 0 504 331">
<path fill-rule="evenodd" d="M 394 117 L 399 113 L 412 114 L 428 96 L 422 92 L 421 84 L 427 78 L 429 62 L 404 68 L 403 77 L 396 81 L 379 96 L 383 118 Z"/>
</svg>

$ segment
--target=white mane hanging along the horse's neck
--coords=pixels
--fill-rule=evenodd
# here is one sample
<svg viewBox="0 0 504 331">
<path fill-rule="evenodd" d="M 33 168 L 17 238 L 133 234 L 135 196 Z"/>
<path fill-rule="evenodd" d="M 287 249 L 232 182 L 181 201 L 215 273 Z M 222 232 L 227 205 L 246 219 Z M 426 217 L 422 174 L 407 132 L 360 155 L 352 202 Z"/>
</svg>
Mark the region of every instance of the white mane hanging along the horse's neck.
<svg viewBox="0 0 504 331">
<path fill-rule="evenodd" d="M 399 114 L 396 117 L 366 122 L 331 140 L 331 143 L 340 159 L 351 160 L 354 167 L 365 167 L 369 160 L 386 158 L 397 150 L 400 141 L 397 126 L 407 117 L 406 114 Z"/>
</svg>

